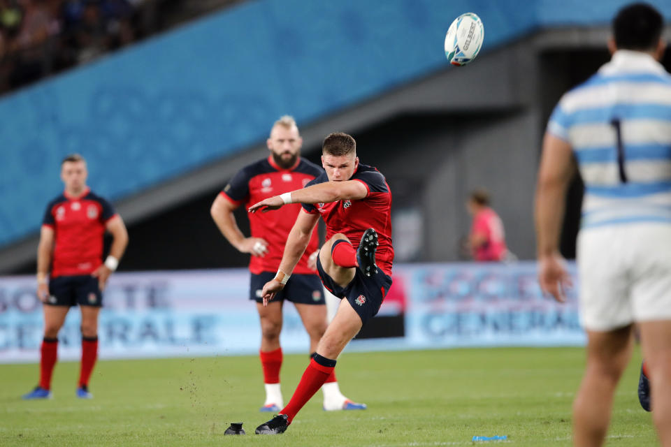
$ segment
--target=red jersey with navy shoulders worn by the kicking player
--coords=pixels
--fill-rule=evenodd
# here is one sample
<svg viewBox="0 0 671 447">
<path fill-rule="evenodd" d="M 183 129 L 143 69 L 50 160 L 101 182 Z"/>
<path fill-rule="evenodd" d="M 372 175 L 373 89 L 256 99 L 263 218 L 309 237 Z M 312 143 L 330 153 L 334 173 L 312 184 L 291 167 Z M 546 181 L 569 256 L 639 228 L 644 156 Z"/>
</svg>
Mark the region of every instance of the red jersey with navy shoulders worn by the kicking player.
<svg viewBox="0 0 671 447">
<path fill-rule="evenodd" d="M 311 214 L 319 213 L 326 223 L 326 239 L 342 233 L 359 246 L 363 232 L 368 228 L 377 231 L 378 242 L 375 263 L 391 276 L 394 261 L 394 247 L 391 246 L 391 190 L 384 175 L 372 166 L 359 163 L 350 180 L 358 180 L 366 185 L 368 195 L 360 200 L 338 200 L 332 203 L 303 203 L 303 209 Z M 307 186 L 328 182 L 326 173 L 320 175 Z"/>
</svg>

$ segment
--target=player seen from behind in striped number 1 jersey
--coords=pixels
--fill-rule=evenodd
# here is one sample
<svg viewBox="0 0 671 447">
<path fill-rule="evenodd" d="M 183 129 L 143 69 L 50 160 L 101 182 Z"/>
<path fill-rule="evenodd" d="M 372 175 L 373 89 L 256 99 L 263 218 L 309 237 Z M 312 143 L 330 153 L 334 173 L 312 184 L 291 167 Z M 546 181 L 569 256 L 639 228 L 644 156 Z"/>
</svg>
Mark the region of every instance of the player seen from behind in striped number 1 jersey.
<svg viewBox="0 0 671 447">
<path fill-rule="evenodd" d="M 585 184 L 577 262 L 588 344 L 573 406 L 578 446 L 603 444 L 634 323 L 654 422 L 671 446 L 671 76 L 658 62 L 662 27 L 647 4 L 622 8 L 611 61 L 561 98 L 544 137 L 535 203 L 539 279 L 557 300 L 568 285 L 558 238 L 574 157 Z"/>
</svg>

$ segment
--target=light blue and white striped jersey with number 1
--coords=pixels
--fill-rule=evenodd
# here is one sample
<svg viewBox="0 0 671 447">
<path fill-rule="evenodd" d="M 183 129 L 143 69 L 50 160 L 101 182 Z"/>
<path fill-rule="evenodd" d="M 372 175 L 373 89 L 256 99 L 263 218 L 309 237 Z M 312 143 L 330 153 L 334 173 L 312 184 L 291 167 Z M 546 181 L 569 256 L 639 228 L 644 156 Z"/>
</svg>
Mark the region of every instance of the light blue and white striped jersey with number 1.
<svg viewBox="0 0 671 447">
<path fill-rule="evenodd" d="M 561 98 L 547 131 L 567 141 L 578 161 L 582 228 L 671 224 L 671 75 L 655 59 L 615 52 Z"/>
</svg>

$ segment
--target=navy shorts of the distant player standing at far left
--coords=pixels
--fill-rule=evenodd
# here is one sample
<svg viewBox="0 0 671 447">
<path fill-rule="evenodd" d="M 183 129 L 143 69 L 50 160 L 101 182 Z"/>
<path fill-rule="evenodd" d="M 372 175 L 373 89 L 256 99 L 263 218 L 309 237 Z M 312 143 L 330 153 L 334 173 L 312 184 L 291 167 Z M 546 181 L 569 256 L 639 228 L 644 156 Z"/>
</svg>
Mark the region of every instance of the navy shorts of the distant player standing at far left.
<svg viewBox="0 0 671 447">
<path fill-rule="evenodd" d="M 103 305 L 103 294 L 98 286 L 98 278 L 90 274 L 56 277 L 49 281 L 48 305 L 52 306 L 93 306 Z"/>
</svg>

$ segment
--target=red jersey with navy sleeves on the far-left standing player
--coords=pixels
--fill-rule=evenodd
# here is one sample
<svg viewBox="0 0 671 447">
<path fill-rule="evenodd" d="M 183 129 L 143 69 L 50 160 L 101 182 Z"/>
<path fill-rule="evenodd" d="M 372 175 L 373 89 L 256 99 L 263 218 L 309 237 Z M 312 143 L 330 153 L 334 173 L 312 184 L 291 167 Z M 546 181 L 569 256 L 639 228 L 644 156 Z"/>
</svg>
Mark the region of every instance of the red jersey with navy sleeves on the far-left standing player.
<svg viewBox="0 0 671 447">
<path fill-rule="evenodd" d="M 90 274 L 103 263 L 103 236 L 115 216 L 110 203 L 88 188 L 73 198 L 63 193 L 49 205 L 43 226 L 54 229 L 51 277 Z"/>
</svg>

